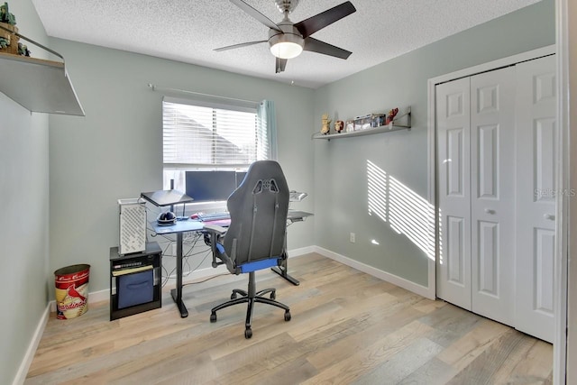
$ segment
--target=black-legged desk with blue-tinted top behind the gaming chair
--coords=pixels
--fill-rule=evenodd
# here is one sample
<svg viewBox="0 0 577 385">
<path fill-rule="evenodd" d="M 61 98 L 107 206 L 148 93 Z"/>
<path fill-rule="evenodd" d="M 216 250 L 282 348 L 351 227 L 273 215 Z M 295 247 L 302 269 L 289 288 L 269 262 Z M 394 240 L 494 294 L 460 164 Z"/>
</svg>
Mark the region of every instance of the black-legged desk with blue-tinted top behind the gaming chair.
<svg viewBox="0 0 577 385">
<path fill-rule="evenodd" d="M 292 224 L 294 222 L 303 221 L 307 216 L 310 216 L 310 215 L 312 215 L 312 214 L 306 213 L 303 211 L 291 211 L 291 210 L 289 210 L 289 215 L 287 217 L 287 220 L 290 222 L 290 224 Z M 202 231 L 202 229 L 204 228 L 204 225 L 205 225 L 204 222 L 197 221 L 194 219 L 177 221 L 176 224 L 169 225 L 169 226 L 158 225 L 156 223 L 156 221 L 151 222 L 151 226 L 154 229 L 154 232 L 156 234 L 177 234 L 177 287 L 176 287 L 176 289 L 170 290 L 170 295 L 172 296 L 172 299 L 174 300 L 174 302 L 179 307 L 180 316 L 182 318 L 185 318 L 188 316 L 188 309 L 187 309 L 186 305 L 184 304 L 184 302 L 182 301 L 182 258 L 183 258 L 183 256 L 182 256 L 182 239 L 183 239 L 183 236 L 182 236 L 182 234 L 188 233 L 188 232 Z M 285 237 L 285 242 L 287 242 L 286 237 Z M 285 250 L 286 250 L 286 247 L 285 247 Z M 298 285 L 298 283 L 299 283 L 298 280 L 295 280 L 294 278 L 289 276 L 289 274 L 287 273 L 287 260 L 288 260 L 288 258 L 284 260 L 283 266 L 280 266 L 279 268 L 272 268 L 272 270 L 274 272 L 276 272 L 277 274 L 279 274 L 281 277 L 283 277 L 285 280 L 289 280 L 294 285 Z"/>
</svg>

